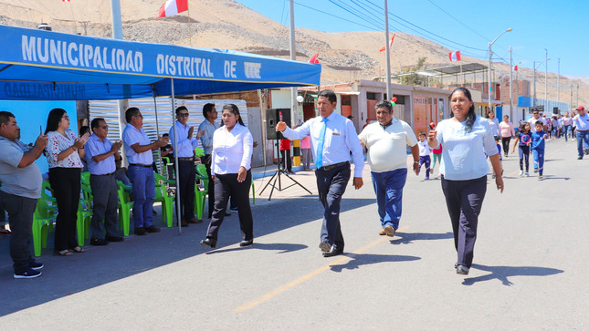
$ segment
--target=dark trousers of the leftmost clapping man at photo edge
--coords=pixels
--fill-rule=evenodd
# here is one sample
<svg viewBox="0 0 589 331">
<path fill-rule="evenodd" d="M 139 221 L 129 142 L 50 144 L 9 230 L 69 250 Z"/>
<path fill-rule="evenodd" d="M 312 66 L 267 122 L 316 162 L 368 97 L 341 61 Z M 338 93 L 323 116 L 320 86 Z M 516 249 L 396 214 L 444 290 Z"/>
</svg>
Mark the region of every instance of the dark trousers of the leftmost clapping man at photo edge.
<svg viewBox="0 0 589 331">
<path fill-rule="evenodd" d="M 15 274 L 28 269 L 28 263 L 35 261 L 28 250 L 31 245 L 33 228 L 33 212 L 37 207 L 37 199 L 25 198 L 0 191 L 0 202 L 8 212 L 10 222 L 10 257 L 12 257 Z"/>
</svg>

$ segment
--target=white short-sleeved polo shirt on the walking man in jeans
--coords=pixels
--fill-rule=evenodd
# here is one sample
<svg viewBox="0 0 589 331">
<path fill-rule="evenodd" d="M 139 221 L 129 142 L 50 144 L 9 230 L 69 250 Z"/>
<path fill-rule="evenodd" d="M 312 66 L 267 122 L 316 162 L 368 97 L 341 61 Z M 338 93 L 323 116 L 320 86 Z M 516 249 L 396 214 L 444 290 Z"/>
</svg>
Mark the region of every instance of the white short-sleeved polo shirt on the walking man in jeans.
<svg viewBox="0 0 589 331">
<path fill-rule="evenodd" d="M 368 164 L 373 172 L 407 168 L 407 146 L 417 143 L 409 124 L 394 117 L 386 129 L 378 122 L 367 125 L 358 138 L 368 149 Z"/>
</svg>

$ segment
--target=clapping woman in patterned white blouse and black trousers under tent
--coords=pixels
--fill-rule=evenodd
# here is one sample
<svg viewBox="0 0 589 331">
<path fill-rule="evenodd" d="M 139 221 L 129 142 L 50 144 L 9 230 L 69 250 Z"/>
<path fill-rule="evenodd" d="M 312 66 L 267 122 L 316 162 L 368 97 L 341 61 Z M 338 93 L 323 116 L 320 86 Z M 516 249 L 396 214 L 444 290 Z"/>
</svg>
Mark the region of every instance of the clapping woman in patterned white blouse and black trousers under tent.
<svg viewBox="0 0 589 331">
<path fill-rule="evenodd" d="M 47 117 L 48 142 L 45 148 L 49 165 L 49 183 L 58 201 L 55 229 L 55 250 L 61 256 L 85 252 L 76 240 L 76 219 L 79 205 L 80 173 L 84 145 L 89 134 L 78 138 L 69 128 L 68 113 L 51 109 Z"/>
</svg>

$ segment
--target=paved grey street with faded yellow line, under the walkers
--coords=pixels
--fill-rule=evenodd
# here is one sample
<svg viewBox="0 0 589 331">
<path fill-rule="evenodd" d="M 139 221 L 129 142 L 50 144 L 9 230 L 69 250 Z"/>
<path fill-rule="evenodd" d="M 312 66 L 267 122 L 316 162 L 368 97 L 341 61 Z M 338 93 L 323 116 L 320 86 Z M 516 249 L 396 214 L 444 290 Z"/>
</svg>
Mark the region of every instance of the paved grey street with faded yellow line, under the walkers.
<svg viewBox="0 0 589 331">
<path fill-rule="evenodd" d="M 299 187 L 256 197 L 255 244 L 240 248 L 237 214 L 216 250 L 198 242 L 206 224 L 53 256 L 43 275 L 16 280 L 0 238 L 0 326 L 41 329 L 589 329 L 589 157 L 576 141 L 546 146 L 544 180 L 518 177 L 503 160 L 505 191 L 490 180 L 470 274 L 456 252 L 439 180 L 409 173 L 394 238 L 380 222 L 369 169 L 342 200 L 343 255 L 318 248 L 321 203 L 314 174 Z M 437 175 L 437 167 L 434 177 Z M 289 183 L 282 178 L 283 183 Z M 260 191 L 268 178 L 256 181 Z M 582 203 L 582 205 L 580 205 Z M 156 224 L 159 223 L 156 216 Z M 206 220 L 205 220 L 206 221 Z"/>
</svg>

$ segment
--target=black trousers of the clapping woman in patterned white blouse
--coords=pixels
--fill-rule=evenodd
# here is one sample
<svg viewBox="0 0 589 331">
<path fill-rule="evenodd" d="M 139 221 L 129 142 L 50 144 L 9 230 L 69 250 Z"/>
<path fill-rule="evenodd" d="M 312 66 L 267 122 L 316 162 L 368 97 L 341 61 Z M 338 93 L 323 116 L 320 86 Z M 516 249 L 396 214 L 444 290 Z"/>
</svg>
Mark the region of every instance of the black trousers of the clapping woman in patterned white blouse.
<svg viewBox="0 0 589 331">
<path fill-rule="evenodd" d="M 55 226 L 55 250 L 63 251 L 78 246 L 76 220 L 78 219 L 80 168 L 50 168 L 49 183 L 58 201 L 58 218 Z"/>
</svg>

